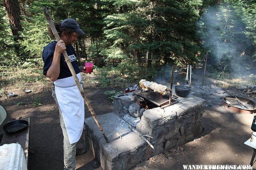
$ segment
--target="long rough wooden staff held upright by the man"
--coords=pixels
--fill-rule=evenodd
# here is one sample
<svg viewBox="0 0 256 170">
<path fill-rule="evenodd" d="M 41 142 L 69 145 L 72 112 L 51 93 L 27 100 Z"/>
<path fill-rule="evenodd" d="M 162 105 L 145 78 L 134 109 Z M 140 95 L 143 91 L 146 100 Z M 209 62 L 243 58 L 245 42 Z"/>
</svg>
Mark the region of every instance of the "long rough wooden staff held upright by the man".
<svg viewBox="0 0 256 170">
<path fill-rule="evenodd" d="M 53 21 L 52 21 L 52 18 L 51 18 L 51 16 L 50 16 L 50 14 L 49 14 L 47 8 L 46 8 L 46 7 L 43 7 L 42 9 L 43 9 L 44 15 L 45 15 L 45 17 L 46 17 L 46 19 L 47 19 L 47 21 L 48 21 L 48 23 L 49 23 L 49 25 L 50 25 L 50 28 L 52 29 L 52 33 L 53 33 L 55 39 L 56 39 L 57 41 L 60 41 L 60 36 L 59 36 L 58 32 L 56 31 L 56 28 L 55 28 L 55 26 L 54 26 L 54 23 L 53 23 Z M 85 96 L 85 94 L 84 94 L 84 91 L 83 91 L 82 87 L 80 86 L 80 82 L 79 82 L 78 77 L 76 76 L 76 72 L 75 72 L 75 70 L 74 70 L 74 68 L 73 68 L 73 66 L 72 66 L 72 64 L 71 64 L 71 62 L 70 62 L 70 60 L 69 60 L 69 58 L 68 58 L 68 54 L 67 54 L 66 50 L 63 52 L 63 55 L 64 55 L 64 58 L 65 58 L 66 63 L 68 64 L 68 68 L 69 68 L 69 70 L 70 70 L 72 76 L 73 76 L 74 79 L 75 79 L 76 86 L 78 87 L 78 89 L 79 89 L 81 95 L 82 95 L 83 98 L 84 98 L 84 102 L 86 103 L 88 109 L 90 110 L 90 112 L 91 112 L 91 114 L 92 114 L 92 117 L 93 117 L 94 120 L 96 121 L 96 123 L 97 123 L 97 125 L 98 125 L 98 127 L 99 127 L 101 133 L 103 134 L 104 138 L 106 139 L 107 143 L 109 143 L 109 140 L 108 140 L 107 136 L 105 135 L 105 133 L 104 133 L 104 131 L 103 131 L 103 129 L 102 129 L 102 127 L 101 127 L 101 125 L 100 125 L 100 123 L 99 123 L 99 121 L 98 121 L 98 119 L 97 119 L 95 113 L 94 113 L 94 110 L 92 109 L 92 107 L 91 107 L 91 105 L 90 105 L 90 103 L 89 103 L 89 100 L 86 98 L 86 96 Z"/>
</svg>

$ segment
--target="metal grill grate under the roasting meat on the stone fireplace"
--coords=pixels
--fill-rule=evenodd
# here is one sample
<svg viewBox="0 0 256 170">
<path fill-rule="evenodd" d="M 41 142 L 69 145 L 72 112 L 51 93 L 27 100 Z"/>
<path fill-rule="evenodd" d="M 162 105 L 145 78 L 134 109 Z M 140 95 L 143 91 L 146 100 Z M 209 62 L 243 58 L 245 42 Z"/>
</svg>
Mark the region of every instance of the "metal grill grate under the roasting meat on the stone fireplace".
<svg viewBox="0 0 256 170">
<path fill-rule="evenodd" d="M 152 102 L 153 104 L 156 104 L 157 106 L 163 106 L 169 102 L 169 95 L 167 94 L 163 96 L 157 92 L 153 92 L 150 90 L 149 91 L 138 90 L 133 93 Z"/>
</svg>

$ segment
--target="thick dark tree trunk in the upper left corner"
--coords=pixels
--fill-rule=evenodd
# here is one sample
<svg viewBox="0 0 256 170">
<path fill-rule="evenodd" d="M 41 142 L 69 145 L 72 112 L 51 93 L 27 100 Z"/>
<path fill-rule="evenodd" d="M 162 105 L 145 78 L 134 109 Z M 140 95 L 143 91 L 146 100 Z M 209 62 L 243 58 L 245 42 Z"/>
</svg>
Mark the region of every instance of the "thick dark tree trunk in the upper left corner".
<svg viewBox="0 0 256 170">
<path fill-rule="evenodd" d="M 22 26 L 20 24 L 20 6 L 18 0 L 4 0 L 4 6 L 9 18 L 12 35 L 14 36 L 15 50 L 19 55 L 20 45 L 18 45 L 18 40 L 21 40 L 19 31 L 22 31 Z"/>
</svg>

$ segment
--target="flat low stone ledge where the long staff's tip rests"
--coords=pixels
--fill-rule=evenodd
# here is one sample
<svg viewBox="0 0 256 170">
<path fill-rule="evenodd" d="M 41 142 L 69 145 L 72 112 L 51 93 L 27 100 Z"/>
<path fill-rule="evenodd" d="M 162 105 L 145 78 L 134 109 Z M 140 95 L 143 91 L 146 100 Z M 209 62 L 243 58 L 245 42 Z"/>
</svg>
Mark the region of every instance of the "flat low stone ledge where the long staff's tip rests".
<svg viewBox="0 0 256 170">
<path fill-rule="evenodd" d="M 130 129 L 126 121 L 118 117 L 114 112 L 99 115 L 97 118 L 110 143 L 106 143 L 93 117 L 86 118 L 84 123 L 86 128 L 89 129 L 95 143 L 100 148 L 100 152 L 110 162 L 118 161 L 122 156 L 129 154 L 134 149 L 146 143 Z M 116 133 L 119 133 L 122 139 Z"/>
</svg>

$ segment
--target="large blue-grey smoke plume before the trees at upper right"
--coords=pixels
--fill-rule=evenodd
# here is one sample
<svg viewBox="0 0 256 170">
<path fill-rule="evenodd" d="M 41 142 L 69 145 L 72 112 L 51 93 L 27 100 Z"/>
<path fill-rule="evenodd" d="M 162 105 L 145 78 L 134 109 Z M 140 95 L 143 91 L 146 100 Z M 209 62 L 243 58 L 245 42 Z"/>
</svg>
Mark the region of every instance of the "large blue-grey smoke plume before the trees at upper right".
<svg viewBox="0 0 256 170">
<path fill-rule="evenodd" d="M 246 62 L 246 50 L 250 48 L 250 39 L 245 35 L 246 22 L 242 20 L 245 16 L 241 15 L 244 14 L 234 10 L 231 5 L 210 7 L 197 23 L 198 36 L 204 49 L 209 52 L 210 61 L 214 62 L 216 68 L 225 67 L 226 71 L 234 74 L 243 72 L 249 64 Z"/>
</svg>

